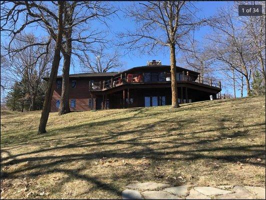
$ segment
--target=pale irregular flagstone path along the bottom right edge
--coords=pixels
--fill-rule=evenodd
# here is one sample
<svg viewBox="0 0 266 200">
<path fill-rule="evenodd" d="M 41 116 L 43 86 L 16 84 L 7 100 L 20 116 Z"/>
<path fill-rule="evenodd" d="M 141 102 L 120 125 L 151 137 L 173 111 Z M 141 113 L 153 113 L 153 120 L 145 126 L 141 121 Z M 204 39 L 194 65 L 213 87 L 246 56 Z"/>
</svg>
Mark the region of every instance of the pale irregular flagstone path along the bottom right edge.
<svg viewBox="0 0 266 200">
<path fill-rule="evenodd" d="M 265 199 L 265 188 L 254 186 L 193 187 L 138 182 L 128 184 L 125 188 L 121 193 L 122 199 Z"/>
</svg>

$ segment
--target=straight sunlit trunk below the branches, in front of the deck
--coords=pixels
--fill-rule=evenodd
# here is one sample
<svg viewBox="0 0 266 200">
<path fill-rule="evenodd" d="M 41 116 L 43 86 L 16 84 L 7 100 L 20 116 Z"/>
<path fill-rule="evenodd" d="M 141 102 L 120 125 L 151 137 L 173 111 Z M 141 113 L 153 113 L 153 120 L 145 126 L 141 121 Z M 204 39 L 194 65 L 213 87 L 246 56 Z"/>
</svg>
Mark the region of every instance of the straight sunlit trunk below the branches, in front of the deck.
<svg viewBox="0 0 266 200">
<path fill-rule="evenodd" d="M 177 82 L 176 82 L 176 60 L 175 46 L 170 44 L 170 65 L 171 65 L 171 90 L 172 90 L 172 107 L 179 107 L 177 101 Z"/>
</svg>

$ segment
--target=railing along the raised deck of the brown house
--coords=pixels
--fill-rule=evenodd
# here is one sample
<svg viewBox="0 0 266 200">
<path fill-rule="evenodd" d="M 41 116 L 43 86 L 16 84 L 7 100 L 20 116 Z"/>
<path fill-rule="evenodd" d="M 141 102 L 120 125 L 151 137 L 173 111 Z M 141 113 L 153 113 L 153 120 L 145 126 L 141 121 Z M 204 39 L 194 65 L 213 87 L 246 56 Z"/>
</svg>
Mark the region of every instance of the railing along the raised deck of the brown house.
<svg viewBox="0 0 266 200">
<path fill-rule="evenodd" d="M 163 81 L 170 81 L 170 73 L 165 73 L 165 77 Z M 189 74 L 188 72 L 181 74 L 181 76 L 176 77 L 177 81 L 191 81 L 191 82 L 198 82 L 201 84 L 218 87 L 221 88 L 221 82 L 219 80 L 215 80 L 213 78 L 206 78 L 202 76 L 195 76 Z M 144 76 L 142 73 L 131 74 L 131 73 L 121 73 L 119 76 L 112 77 L 108 80 L 102 80 L 99 82 L 90 81 L 89 82 L 89 90 L 102 90 L 108 89 L 111 87 L 116 87 L 124 82 L 127 83 L 137 83 L 137 82 L 144 82 Z M 161 82 L 161 81 L 151 81 L 151 82 Z"/>
</svg>

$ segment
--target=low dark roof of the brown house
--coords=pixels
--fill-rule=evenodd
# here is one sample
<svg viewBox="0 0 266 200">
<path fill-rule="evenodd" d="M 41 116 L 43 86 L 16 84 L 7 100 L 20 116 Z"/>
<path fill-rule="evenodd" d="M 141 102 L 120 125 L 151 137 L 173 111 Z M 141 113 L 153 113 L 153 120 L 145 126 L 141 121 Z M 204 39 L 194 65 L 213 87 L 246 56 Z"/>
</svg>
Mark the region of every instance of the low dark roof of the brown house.
<svg viewBox="0 0 266 200">
<path fill-rule="evenodd" d="M 127 71 L 130 71 L 130 70 L 133 70 L 133 69 L 138 69 L 138 68 L 153 68 L 153 67 L 156 67 L 156 68 L 168 68 L 170 67 L 170 65 L 144 65 L 144 66 L 136 66 L 136 67 L 133 67 L 133 68 L 130 68 L 130 69 L 127 69 L 127 70 L 124 70 L 124 71 L 118 71 L 118 72 L 90 72 L 90 73 L 74 73 L 74 74 L 69 74 L 69 77 L 104 77 L 104 76 L 114 76 L 114 75 L 118 75 L 120 73 L 124 73 L 124 72 L 127 72 Z M 189 72 L 192 72 L 192 73 L 195 73 L 195 74 L 199 74 L 199 72 L 196 72 L 196 71 L 192 71 L 190 69 L 186 69 L 186 68 L 183 68 L 183 67 L 180 67 L 180 66 L 176 66 L 177 68 L 181 69 L 181 70 L 184 70 L 184 71 L 189 71 Z M 57 75 L 57 78 L 61 78 L 62 75 Z M 48 76 L 44 76 L 42 77 L 44 80 L 48 80 L 49 77 Z"/>
</svg>

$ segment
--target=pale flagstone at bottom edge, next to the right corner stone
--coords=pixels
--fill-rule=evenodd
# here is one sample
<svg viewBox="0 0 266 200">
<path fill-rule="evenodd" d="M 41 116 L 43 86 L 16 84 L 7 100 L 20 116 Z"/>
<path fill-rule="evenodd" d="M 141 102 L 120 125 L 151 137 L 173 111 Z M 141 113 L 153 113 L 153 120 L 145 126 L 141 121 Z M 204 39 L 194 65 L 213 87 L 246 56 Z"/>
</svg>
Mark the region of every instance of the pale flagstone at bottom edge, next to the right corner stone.
<svg viewBox="0 0 266 200">
<path fill-rule="evenodd" d="M 253 199 L 254 197 L 243 187 L 234 186 L 234 193 L 218 195 L 218 199 Z"/>
</svg>

